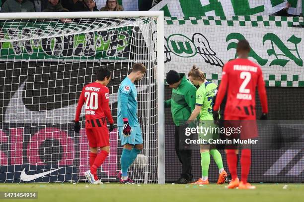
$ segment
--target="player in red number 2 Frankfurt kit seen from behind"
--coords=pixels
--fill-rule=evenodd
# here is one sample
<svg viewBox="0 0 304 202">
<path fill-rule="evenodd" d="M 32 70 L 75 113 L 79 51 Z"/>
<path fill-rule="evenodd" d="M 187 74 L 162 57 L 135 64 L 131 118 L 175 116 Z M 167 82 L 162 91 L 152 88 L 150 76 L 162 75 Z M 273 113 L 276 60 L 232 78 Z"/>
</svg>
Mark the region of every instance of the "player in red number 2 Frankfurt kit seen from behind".
<svg viewBox="0 0 304 202">
<path fill-rule="evenodd" d="M 256 120 L 256 87 L 258 88 L 262 104 L 261 119 L 267 119 L 268 105 L 262 70 L 259 65 L 248 59 L 250 46 L 246 40 L 238 42 L 236 51 L 238 58 L 228 61 L 223 68 L 221 85 L 213 107 L 214 120 L 219 119 L 218 110 L 226 93 L 225 120 L 242 120 L 241 123 L 245 124 L 250 121 L 244 122 L 243 120 Z M 242 130 L 241 138 L 257 137 L 256 123 L 254 123 L 255 121 L 250 122 L 251 126 L 249 128 L 251 131 L 244 133 L 244 130 Z M 252 126 L 252 124 L 254 126 Z M 232 181 L 229 183 L 228 188 L 254 189 L 254 186 L 247 183 L 247 176 L 251 164 L 251 150 L 243 149 L 241 151 L 241 182 L 239 182 L 237 178 L 236 152 L 238 152 L 238 150 L 226 150 L 227 163 L 232 176 Z"/>
</svg>

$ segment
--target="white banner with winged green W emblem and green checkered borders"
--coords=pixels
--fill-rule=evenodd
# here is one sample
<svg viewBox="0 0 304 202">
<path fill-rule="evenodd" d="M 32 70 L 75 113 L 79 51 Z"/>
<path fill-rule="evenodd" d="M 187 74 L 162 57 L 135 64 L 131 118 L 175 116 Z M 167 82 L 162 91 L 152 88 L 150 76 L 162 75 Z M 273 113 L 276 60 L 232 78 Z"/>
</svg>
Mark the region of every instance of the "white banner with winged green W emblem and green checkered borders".
<svg viewBox="0 0 304 202">
<path fill-rule="evenodd" d="M 219 84 L 222 68 L 246 39 L 249 59 L 263 70 L 267 86 L 304 87 L 304 32 L 298 17 L 165 17 L 165 72 L 186 75 L 196 64 Z"/>
</svg>

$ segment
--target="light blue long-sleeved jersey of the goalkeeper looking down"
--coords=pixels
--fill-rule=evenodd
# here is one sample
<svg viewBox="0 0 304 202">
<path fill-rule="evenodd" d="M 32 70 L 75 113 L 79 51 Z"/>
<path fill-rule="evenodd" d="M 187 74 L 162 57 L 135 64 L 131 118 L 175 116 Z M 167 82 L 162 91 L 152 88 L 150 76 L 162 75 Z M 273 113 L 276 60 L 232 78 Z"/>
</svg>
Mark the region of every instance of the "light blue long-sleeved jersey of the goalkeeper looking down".
<svg viewBox="0 0 304 202">
<path fill-rule="evenodd" d="M 139 126 L 137 118 L 137 90 L 132 81 L 126 77 L 118 89 L 117 126 L 123 126 L 123 118 L 128 118 L 129 125 Z"/>
</svg>

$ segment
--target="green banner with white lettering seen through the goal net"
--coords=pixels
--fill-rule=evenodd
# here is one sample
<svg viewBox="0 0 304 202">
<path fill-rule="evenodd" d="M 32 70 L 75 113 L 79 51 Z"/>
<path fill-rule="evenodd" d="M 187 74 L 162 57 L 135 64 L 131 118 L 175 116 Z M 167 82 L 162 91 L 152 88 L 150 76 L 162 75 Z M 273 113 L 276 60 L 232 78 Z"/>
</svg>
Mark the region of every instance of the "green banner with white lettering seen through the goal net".
<svg viewBox="0 0 304 202">
<path fill-rule="evenodd" d="M 0 60 L 111 60 L 129 57 L 133 27 L 65 35 L 67 26 L 73 27 L 73 24 L 6 22 L 2 24 L 1 34 L 6 40 L 2 42 Z M 52 32 L 64 36 L 41 39 L 41 36 Z M 30 40 L 14 41 L 20 38 Z"/>
</svg>

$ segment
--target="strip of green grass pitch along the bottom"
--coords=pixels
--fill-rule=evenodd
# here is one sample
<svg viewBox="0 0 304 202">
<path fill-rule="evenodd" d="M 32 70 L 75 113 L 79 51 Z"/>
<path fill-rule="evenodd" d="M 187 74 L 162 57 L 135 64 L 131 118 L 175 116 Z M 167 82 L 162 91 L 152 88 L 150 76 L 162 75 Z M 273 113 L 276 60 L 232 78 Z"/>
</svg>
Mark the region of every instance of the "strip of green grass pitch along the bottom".
<svg viewBox="0 0 304 202">
<path fill-rule="evenodd" d="M 120 185 L 105 183 L 0 184 L 0 192 L 38 192 L 34 200 L 0 202 L 300 202 L 304 184 L 253 184 L 255 190 L 228 190 L 224 185 Z"/>
</svg>

